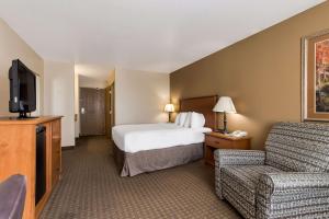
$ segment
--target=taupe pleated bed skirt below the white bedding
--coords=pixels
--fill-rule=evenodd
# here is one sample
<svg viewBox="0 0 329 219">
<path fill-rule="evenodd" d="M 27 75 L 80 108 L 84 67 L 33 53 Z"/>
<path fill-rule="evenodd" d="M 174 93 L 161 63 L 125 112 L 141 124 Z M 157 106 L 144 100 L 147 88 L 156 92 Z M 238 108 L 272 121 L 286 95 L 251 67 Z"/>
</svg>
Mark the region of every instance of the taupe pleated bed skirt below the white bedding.
<svg viewBox="0 0 329 219">
<path fill-rule="evenodd" d="M 146 150 L 136 153 L 124 152 L 114 143 L 113 152 L 121 176 L 134 176 L 200 160 L 203 158 L 203 143 Z"/>
</svg>

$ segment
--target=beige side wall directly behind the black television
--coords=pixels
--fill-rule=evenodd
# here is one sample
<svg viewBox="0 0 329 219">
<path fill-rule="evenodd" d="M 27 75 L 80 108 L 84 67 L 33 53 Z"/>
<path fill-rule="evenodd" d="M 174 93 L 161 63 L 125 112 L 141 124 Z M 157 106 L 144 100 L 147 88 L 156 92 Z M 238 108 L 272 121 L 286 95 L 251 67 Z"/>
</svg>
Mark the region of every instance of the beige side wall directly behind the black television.
<svg viewBox="0 0 329 219">
<path fill-rule="evenodd" d="M 43 113 L 43 59 L 0 19 L 0 116 L 10 115 L 8 70 L 13 59 L 20 59 L 41 76 L 41 114 Z"/>
</svg>

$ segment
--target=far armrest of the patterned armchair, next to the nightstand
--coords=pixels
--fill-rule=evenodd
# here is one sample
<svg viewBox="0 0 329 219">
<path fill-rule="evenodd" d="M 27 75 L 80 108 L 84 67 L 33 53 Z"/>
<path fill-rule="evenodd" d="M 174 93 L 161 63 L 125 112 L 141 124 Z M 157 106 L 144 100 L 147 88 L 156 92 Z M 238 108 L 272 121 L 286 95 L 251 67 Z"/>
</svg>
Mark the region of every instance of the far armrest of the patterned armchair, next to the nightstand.
<svg viewBox="0 0 329 219">
<path fill-rule="evenodd" d="M 217 149 L 214 152 L 216 168 L 224 165 L 263 165 L 265 152 L 261 150 L 227 150 Z"/>
</svg>

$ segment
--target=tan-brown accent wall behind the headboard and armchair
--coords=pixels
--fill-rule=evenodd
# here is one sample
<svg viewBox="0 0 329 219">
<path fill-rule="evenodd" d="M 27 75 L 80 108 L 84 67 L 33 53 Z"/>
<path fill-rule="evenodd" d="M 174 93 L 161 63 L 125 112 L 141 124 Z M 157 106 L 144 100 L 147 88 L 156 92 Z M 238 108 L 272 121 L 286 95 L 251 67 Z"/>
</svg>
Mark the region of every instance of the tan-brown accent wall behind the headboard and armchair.
<svg viewBox="0 0 329 219">
<path fill-rule="evenodd" d="M 219 50 L 170 76 L 171 99 L 231 96 L 239 114 L 229 129 L 245 129 L 261 149 L 271 125 L 300 120 L 300 37 L 329 28 L 329 2 Z"/>
</svg>

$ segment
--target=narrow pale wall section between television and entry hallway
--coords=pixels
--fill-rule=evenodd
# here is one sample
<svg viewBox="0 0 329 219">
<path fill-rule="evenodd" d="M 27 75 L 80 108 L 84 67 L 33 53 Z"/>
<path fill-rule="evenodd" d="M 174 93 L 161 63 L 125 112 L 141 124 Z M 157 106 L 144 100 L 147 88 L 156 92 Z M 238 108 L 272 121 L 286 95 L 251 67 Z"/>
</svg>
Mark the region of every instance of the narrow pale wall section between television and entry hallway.
<svg viewBox="0 0 329 219">
<path fill-rule="evenodd" d="M 61 146 L 75 146 L 75 65 L 45 61 L 44 111 L 60 115 Z"/>
</svg>

